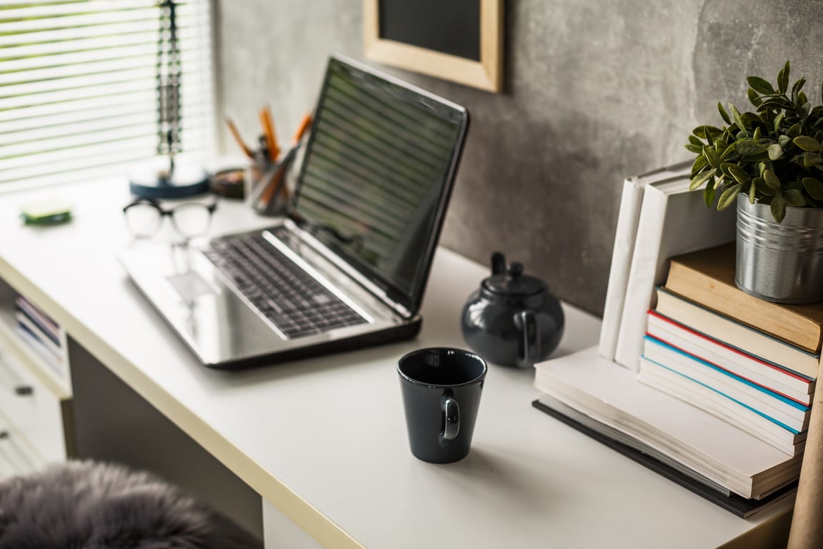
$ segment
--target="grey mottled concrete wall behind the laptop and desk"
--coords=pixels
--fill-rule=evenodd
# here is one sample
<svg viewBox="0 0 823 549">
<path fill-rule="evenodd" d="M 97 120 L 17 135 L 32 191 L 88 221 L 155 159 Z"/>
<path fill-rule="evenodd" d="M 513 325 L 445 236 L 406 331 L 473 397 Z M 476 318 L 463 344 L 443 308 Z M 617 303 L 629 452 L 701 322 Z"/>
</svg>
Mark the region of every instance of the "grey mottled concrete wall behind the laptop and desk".
<svg viewBox="0 0 823 549">
<path fill-rule="evenodd" d="M 522 261 L 560 298 L 602 314 L 622 179 L 685 160 L 691 128 L 746 107 L 746 75 L 789 59 L 821 102 L 823 2 L 507 0 L 505 89 L 383 67 L 466 105 L 467 146 L 441 244 Z M 360 0 L 216 0 L 221 115 L 291 134 L 328 54 L 363 59 Z M 374 63 L 376 64 L 376 63 Z M 235 151 L 223 133 L 226 151 Z M 467 288 L 467 294 L 470 291 Z"/>
</svg>

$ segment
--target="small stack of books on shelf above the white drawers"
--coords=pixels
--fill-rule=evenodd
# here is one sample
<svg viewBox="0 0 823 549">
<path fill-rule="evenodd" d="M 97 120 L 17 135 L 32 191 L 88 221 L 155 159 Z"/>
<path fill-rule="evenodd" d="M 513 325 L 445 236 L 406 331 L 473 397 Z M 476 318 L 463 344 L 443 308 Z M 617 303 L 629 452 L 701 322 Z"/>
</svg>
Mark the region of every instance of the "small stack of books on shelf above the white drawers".
<svg viewBox="0 0 823 549">
<path fill-rule="evenodd" d="M 66 333 L 36 305 L 18 296 L 15 300 L 16 329 L 21 339 L 60 378 L 67 377 Z"/>
</svg>

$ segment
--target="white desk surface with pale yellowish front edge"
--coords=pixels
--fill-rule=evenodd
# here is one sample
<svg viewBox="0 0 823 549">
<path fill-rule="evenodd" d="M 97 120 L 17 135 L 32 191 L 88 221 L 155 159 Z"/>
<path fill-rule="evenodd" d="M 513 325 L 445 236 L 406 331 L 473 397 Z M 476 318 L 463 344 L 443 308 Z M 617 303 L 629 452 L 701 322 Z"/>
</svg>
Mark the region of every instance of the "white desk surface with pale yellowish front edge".
<svg viewBox="0 0 823 549">
<path fill-rule="evenodd" d="M 75 203 L 66 226 L 21 226 L 33 196 Z M 0 277 L 324 547 L 715 547 L 789 508 L 738 519 L 538 412 L 532 370 L 490 365 L 471 454 L 408 449 L 396 360 L 465 347 L 459 311 L 486 267 L 439 249 L 415 341 L 243 372 L 208 370 L 131 285 L 125 182 L 0 195 Z M 267 223 L 223 202 L 215 232 Z M 565 307 L 556 354 L 597 341 Z"/>
</svg>

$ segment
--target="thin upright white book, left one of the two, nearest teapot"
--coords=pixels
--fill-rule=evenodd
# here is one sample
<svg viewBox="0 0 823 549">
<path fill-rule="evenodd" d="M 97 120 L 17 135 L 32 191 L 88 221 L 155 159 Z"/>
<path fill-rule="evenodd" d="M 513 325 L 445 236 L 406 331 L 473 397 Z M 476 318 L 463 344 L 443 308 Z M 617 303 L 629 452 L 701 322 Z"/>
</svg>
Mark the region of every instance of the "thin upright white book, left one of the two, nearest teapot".
<svg viewBox="0 0 823 549">
<path fill-rule="evenodd" d="M 631 256 L 635 251 L 637 224 L 640 217 L 640 204 L 643 202 L 643 189 L 654 181 L 669 179 L 674 175 L 689 170 L 691 161 L 680 162 L 645 174 L 633 175 L 624 179 L 621 193 L 620 210 L 617 213 L 615 242 L 611 249 L 611 267 L 606 289 L 606 302 L 603 305 L 603 321 L 600 330 L 600 343 L 597 351 L 609 360 L 615 356 L 617 336 L 620 332 L 623 303 L 625 300 L 626 281 L 629 280 Z"/>
</svg>

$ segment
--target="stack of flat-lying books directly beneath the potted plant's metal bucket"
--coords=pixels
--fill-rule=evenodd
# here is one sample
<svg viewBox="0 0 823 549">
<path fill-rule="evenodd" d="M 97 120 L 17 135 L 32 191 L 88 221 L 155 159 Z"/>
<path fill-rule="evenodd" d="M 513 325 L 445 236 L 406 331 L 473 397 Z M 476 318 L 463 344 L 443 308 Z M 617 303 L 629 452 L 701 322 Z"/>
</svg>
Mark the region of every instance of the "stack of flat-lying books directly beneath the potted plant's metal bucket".
<svg viewBox="0 0 823 549">
<path fill-rule="evenodd" d="M 735 286 L 735 246 L 671 259 L 648 311 L 639 380 L 789 455 L 805 445 L 823 303 L 779 305 Z"/>
</svg>

